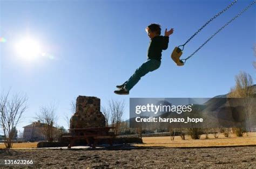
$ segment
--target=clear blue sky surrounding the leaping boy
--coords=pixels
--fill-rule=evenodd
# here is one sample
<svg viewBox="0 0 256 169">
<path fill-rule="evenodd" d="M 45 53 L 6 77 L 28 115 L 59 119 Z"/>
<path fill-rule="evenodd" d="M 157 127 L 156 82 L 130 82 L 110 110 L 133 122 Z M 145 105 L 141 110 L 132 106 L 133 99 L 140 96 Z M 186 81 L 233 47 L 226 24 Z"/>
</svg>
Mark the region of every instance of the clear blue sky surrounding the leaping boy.
<svg viewBox="0 0 256 169">
<path fill-rule="evenodd" d="M 57 105 L 58 125 L 67 128 L 64 114 L 78 95 L 96 96 L 101 104 L 130 97 L 213 97 L 226 94 L 240 71 L 256 81 L 252 47 L 255 43 L 255 5 L 217 34 L 183 67 L 170 54 L 208 19 L 232 1 L 3 1 L 0 0 L 0 88 L 28 95 L 22 129 L 40 107 Z M 252 1 L 238 1 L 207 25 L 185 46 L 183 58 L 194 52 L 219 27 Z M 115 95 L 145 60 L 151 23 L 174 28 L 161 66 L 147 74 L 128 96 Z M 19 57 L 17 41 L 30 37 L 41 46 L 36 59 Z"/>
</svg>

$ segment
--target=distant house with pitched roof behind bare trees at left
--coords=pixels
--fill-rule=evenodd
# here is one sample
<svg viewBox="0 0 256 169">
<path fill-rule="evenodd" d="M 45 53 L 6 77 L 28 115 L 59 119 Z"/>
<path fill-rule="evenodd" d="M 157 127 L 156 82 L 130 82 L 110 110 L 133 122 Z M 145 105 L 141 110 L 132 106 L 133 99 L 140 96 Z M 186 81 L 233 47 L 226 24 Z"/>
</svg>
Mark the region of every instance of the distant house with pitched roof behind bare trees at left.
<svg viewBox="0 0 256 169">
<path fill-rule="evenodd" d="M 37 122 L 33 122 L 30 125 L 24 126 L 23 140 L 30 141 L 30 142 L 45 140 L 46 138 L 42 132 L 44 125 L 45 125 L 44 123 L 37 121 Z"/>
</svg>

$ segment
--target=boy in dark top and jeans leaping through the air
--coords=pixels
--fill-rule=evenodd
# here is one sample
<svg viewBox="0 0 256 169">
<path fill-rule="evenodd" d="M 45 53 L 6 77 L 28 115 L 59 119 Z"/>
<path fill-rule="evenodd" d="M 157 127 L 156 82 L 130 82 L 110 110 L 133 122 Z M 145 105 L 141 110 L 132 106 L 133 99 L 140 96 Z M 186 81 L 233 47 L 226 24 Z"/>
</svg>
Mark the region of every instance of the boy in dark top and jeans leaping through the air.
<svg viewBox="0 0 256 169">
<path fill-rule="evenodd" d="M 166 50 L 169 43 L 169 36 L 173 33 L 173 29 L 167 31 L 165 29 L 165 35 L 160 36 L 161 26 L 158 24 L 151 24 L 146 27 L 146 32 L 151 39 L 149 48 L 147 49 L 147 61 L 140 66 L 129 80 L 123 83 L 123 85 L 116 86 L 119 90 L 115 90 L 114 93 L 118 95 L 129 95 L 129 91 L 145 74 L 158 69 L 161 65 L 161 52 Z"/>
</svg>

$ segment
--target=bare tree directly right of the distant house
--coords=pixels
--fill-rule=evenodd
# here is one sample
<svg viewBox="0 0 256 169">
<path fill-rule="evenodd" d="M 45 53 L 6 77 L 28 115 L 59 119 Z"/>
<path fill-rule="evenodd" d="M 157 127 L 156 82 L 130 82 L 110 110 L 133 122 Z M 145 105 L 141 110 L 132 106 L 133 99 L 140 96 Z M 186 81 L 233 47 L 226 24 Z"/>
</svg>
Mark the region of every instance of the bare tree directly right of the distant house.
<svg viewBox="0 0 256 169">
<path fill-rule="evenodd" d="M 55 105 L 52 104 L 50 107 L 42 107 L 39 114 L 37 114 L 37 119 L 43 124 L 42 133 L 48 140 L 48 142 L 53 141 L 54 135 L 54 126 L 56 124 L 57 116 L 56 116 L 56 108 Z"/>
</svg>

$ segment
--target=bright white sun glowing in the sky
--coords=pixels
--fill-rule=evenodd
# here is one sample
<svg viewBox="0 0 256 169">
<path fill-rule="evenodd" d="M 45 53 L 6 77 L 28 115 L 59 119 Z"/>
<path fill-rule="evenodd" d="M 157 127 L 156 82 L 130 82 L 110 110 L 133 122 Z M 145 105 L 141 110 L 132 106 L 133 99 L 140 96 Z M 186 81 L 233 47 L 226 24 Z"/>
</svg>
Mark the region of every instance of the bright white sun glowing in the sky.
<svg viewBox="0 0 256 169">
<path fill-rule="evenodd" d="M 35 39 L 27 37 L 17 42 L 16 52 L 19 57 L 33 60 L 41 54 L 41 47 Z"/>
</svg>

